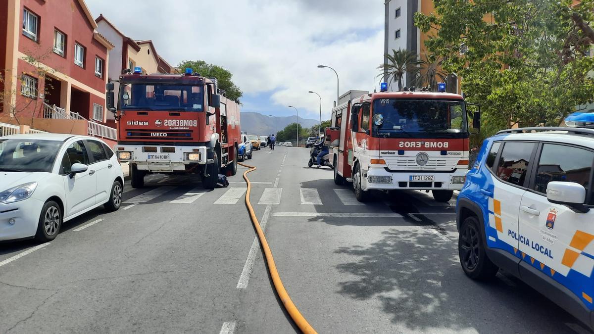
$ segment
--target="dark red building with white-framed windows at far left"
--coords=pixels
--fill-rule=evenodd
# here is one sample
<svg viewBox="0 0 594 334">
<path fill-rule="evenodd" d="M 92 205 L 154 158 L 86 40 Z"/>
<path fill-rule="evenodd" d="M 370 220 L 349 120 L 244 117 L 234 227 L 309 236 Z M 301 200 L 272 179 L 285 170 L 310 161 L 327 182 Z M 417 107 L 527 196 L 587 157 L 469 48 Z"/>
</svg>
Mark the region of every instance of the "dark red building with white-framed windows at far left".
<svg viewBox="0 0 594 334">
<path fill-rule="evenodd" d="M 0 1 L 0 121 L 56 133 L 110 132 L 102 122 L 114 46 L 96 28 L 84 0 Z"/>
</svg>

